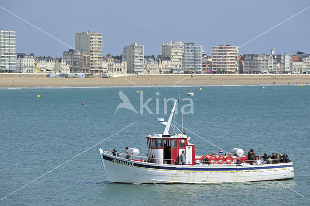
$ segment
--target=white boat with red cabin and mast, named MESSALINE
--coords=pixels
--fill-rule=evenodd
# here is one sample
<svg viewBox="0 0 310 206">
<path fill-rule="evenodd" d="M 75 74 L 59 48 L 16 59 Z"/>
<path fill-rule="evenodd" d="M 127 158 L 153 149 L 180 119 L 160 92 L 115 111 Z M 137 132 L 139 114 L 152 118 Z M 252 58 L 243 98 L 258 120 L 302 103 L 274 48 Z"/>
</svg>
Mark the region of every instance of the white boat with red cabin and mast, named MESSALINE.
<svg viewBox="0 0 310 206">
<path fill-rule="evenodd" d="M 99 149 L 107 181 L 114 183 L 222 183 L 252 182 L 291 179 L 294 177 L 292 162 L 263 164 L 256 156 L 248 160 L 240 148 L 232 152 L 219 151 L 196 155 L 195 145 L 184 133 L 169 134 L 177 100 L 163 134 L 146 137 L 148 154 L 140 156 L 139 149 L 129 148 L 126 154 L 114 156 L 109 151 Z M 172 127 L 174 130 L 174 127 Z M 186 165 L 181 164 L 182 151 L 186 155 Z"/>
</svg>

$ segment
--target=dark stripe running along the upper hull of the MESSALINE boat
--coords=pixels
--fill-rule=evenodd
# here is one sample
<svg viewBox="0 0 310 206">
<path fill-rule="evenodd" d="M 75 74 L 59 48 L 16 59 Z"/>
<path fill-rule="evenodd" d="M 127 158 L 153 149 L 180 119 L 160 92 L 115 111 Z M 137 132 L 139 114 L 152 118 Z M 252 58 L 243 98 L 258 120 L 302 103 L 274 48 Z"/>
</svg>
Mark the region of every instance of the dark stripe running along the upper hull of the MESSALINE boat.
<svg viewBox="0 0 310 206">
<path fill-rule="evenodd" d="M 118 158 L 111 158 L 109 156 L 104 156 L 102 155 L 103 159 L 114 162 L 113 159 L 115 160 L 121 160 L 123 162 L 130 162 L 132 163 L 133 161 L 128 161 L 128 160 L 124 160 L 124 159 L 118 159 Z M 127 165 L 127 164 L 124 164 Z M 236 168 L 199 168 L 199 167 L 188 167 L 186 166 L 186 168 L 183 167 L 175 167 L 175 166 L 157 166 L 157 165 L 145 165 L 145 164 L 140 164 L 137 162 L 134 162 L 133 165 L 131 166 L 135 166 L 135 167 L 143 167 L 143 168 L 149 168 L 149 169 L 161 169 L 161 170 L 175 170 L 175 171 L 243 171 L 243 170 L 265 170 L 265 169 L 280 169 L 280 168 L 286 168 L 286 167 L 293 167 L 293 164 L 289 164 L 289 165 L 277 165 L 277 166 L 254 166 L 254 167 L 239 167 L 239 165 L 235 165 L 237 166 Z"/>
</svg>

